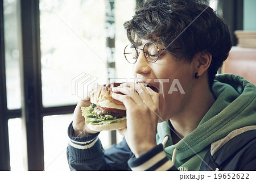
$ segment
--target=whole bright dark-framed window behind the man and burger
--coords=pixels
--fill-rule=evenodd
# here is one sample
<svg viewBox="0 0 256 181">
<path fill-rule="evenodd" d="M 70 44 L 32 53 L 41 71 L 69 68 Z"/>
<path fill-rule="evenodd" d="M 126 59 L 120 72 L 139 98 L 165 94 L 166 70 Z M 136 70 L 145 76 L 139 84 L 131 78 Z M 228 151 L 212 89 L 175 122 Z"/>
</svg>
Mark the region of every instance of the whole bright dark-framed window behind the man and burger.
<svg viewBox="0 0 256 181">
<path fill-rule="evenodd" d="M 106 83 L 111 75 L 105 36 L 109 1 L 0 3 L 4 5 L 0 9 L 1 44 L 5 43 L 1 46 L 5 56 L 1 57 L 1 66 L 5 65 L 1 75 L 5 76 L 0 90 L 0 155 L 5 168 L 0 170 L 69 170 L 67 127 L 79 100 L 79 95 L 72 94 L 72 79 L 85 73 Z M 131 19 L 135 4 L 135 0 L 116 0 L 117 8 L 112 7 L 115 78 L 132 76 L 122 53 L 128 44 L 123 23 Z M 104 148 L 122 140 L 115 132 L 102 132 L 99 137 Z"/>
</svg>

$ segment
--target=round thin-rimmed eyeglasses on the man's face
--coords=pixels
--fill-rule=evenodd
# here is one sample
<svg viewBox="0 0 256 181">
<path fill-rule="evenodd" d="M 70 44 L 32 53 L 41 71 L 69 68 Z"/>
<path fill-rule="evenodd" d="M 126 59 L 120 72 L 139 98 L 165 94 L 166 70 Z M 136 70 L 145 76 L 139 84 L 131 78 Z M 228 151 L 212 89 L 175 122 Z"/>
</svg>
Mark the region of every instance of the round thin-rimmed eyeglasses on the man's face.
<svg viewBox="0 0 256 181">
<path fill-rule="evenodd" d="M 135 64 L 137 62 L 138 56 L 142 49 L 137 50 L 134 45 L 126 45 L 123 54 L 125 54 L 125 59 L 130 64 Z M 161 49 L 165 50 L 165 49 Z M 148 42 L 143 47 L 144 57 L 148 62 L 156 62 L 160 55 L 158 46 L 153 42 Z"/>
</svg>

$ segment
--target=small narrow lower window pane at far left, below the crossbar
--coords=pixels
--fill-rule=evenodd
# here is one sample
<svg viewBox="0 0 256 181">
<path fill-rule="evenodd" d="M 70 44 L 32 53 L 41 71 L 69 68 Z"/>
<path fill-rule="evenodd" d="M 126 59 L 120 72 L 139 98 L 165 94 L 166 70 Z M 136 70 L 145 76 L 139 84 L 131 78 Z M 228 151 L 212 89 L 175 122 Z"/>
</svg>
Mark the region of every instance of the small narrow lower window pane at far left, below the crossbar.
<svg viewBox="0 0 256 181">
<path fill-rule="evenodd" d="M 11 170 L 24 170 L 22 152 L 22 119 L 8 120 Z"/>
</svg>

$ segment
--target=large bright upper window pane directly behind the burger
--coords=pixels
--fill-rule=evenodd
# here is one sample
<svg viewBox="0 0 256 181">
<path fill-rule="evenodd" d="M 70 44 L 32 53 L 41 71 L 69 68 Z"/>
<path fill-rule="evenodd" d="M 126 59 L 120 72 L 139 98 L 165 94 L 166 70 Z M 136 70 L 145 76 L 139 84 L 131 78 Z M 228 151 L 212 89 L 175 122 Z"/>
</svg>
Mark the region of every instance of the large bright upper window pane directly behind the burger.
<svg viewBox="0 0 256 181">
<path fill-rule="evenodd" d="M 40 1 L 43 106 L 74 104 L 72 79 L 107 81 L 105 1 Z"/>
</svg>

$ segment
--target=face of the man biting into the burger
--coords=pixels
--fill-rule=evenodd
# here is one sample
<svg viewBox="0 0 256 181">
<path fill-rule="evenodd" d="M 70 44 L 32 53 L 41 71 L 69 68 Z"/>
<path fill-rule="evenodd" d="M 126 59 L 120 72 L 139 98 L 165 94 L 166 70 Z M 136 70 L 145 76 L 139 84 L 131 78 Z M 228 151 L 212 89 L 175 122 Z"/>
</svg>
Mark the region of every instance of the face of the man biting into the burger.
<svg viewBox="0 0 256 181">
<path fill-rule="evenodd" d="M 143 49 L 148 41 L 142 41 L 137 49 Z M 185 58 L 177 61 L 162 45 L 158 44 L 160 56 L 154 63 L 148 62 L 144 57 L 143 50 L 138 56 L 137 62 L 133 65 L 135 79 L 149 82 L 159 90 L 159 116 L 160 121 L 166 121 L 176 116 L 185 104 L 189 101 L 193 85 L 193 68 Z"/>
</svg>

